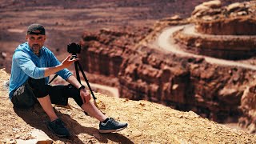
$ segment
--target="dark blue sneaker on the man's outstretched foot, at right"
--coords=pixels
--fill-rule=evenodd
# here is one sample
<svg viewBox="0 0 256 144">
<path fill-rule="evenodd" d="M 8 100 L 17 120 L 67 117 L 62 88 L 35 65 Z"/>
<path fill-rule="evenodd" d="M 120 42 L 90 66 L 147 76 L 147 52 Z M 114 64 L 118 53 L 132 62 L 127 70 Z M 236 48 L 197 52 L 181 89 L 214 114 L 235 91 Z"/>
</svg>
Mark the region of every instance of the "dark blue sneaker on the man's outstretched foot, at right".
<svg viewBox="0 0 256 144">
<path fill-rule="evenodd" d="M 114 120 L 114 118 L 109 118 L 106 123 L 99 123 L 100 133 L 112 133 L 125 129 L 128 126 L 127 123 L 121 123 Z"/>
</svg>

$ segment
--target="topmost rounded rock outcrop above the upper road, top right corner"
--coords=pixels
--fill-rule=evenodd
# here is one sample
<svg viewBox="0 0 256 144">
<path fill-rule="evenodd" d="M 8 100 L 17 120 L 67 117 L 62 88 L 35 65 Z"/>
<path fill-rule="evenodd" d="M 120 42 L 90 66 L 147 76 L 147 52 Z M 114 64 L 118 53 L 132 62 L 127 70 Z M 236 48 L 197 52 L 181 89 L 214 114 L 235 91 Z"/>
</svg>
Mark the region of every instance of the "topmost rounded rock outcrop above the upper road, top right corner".
<svg viewBox="0 0 256 144">
<path fill-rule="evenodd" d="M 255 35 L 256 2 L 236 2 L 221 6 L 220 1 L 204 2 L 196 6 L 191 18 L 195 29 L 202 34 Z"/>
</svg>

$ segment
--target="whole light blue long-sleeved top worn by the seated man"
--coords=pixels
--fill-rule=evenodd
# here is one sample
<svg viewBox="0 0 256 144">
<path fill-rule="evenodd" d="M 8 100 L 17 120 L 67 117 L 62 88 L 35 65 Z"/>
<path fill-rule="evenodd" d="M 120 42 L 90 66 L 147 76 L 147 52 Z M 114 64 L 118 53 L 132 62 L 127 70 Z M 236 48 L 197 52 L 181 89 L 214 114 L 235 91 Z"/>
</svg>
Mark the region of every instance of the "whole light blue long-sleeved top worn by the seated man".
<svg viewBox="0 0 256 144">
<path fill-rule="evenodd" d="M 33 50 L 30 49 L 27 42 L 19 45 L 13 55 L 9 98 L 12 98 L 14 90 L 22 86 L 28 78 L 44 78 L 46 67 L 58 66 L 59 64 L 61 64 L 61 62 L 59 62 L 54 54 L 45 46 L 40 50 L 40 56 L 38 57 L 33 53 Z M 60 70 L 57 74 L 65 80 L 72 75 L 67 69 Z M 46 84 L 48 81 L 49 77 L 46 77 Z"/>
</svg>

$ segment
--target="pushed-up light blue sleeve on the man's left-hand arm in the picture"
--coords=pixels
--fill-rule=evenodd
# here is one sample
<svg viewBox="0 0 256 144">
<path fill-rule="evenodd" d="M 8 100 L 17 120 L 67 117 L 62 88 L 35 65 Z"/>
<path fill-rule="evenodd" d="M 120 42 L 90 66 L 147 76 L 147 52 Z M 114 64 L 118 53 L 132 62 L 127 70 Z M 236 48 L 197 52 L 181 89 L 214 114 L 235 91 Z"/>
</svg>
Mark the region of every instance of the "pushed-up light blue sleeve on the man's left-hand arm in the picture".
<svg viewBox="0 0 256 144">
<path fill-rule="evenodd" d="M 34 62 L 30 59 L 28 54 L 22 51 L 18 51 L 14 54 L 13 59 L 18 63 L 18 66 L 20 66 L 24 73 L 26 73 L 30 78 L 44 78 L 45 68 L 35 66 Z"/>
</svg>

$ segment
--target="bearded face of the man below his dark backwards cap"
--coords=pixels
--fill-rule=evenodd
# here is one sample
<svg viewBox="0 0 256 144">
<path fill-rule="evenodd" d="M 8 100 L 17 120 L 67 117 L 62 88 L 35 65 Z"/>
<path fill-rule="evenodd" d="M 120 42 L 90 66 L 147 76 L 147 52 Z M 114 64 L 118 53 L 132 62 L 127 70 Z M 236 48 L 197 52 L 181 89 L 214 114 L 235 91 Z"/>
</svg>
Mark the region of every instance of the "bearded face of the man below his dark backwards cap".
<svg viewBox="0 0 256 144">
<path fill-rule="evenodd" d="M 27 34 L 26 41 L 28 42 L 30 48 L 33 50 L 34 54 L 38 54 L 39 50 L 42 49 L 42 46 L 46 41 L 46 35 Z"/>
</svg>

